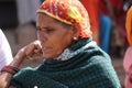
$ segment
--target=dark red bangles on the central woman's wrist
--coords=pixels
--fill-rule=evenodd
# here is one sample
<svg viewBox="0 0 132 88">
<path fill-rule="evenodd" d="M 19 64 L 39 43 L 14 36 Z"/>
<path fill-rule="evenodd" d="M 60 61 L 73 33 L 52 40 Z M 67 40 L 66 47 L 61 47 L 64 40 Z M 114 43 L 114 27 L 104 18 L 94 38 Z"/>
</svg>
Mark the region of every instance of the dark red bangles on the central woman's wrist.
<svg viewBox="0 0 132 88">
<path fill-rule="evenodd" d="M 14 75 L 15 73 L 19 72 L 19 68 L 16 67 L 13 67 L 13 66 L 4 66 L 1 72 L 7 72 L 7 73 L 10 73 L 12 75 Z"/>
</svg>

